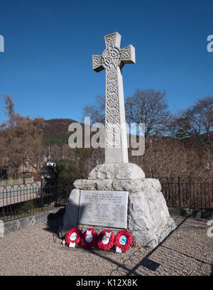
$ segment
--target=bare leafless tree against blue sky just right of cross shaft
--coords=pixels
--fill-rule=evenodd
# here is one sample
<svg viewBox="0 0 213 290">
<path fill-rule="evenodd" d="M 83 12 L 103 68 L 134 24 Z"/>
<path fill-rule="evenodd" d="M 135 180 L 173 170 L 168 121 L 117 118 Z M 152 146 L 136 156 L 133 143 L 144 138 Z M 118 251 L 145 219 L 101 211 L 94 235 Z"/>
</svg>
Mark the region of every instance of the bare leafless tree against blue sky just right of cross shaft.
<svg viewBox="0 0 213 290">
<path fill-rule="evenodd" d="M 169 117 L 165 91 L 139 90 L 126 99 L 126 122 L 145 123 L 145 136 L 159 134 Z"/>
</svg>

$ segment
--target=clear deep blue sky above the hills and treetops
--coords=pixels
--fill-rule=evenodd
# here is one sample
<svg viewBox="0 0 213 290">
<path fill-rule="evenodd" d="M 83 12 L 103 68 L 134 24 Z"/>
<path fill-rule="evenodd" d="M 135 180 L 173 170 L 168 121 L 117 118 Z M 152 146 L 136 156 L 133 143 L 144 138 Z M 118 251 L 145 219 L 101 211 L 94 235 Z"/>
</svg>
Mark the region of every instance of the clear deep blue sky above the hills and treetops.
<svg viewBox="0 0 213 290">
<path fill-rule="evenodd" d="M 1 1 L 0 122 L 3 95 L 23 116 L 80 120 L 84 104 L 104 94 L 105 73 L 92 70 L 104 35 L 136 48 L 125 65 L 124 96 L 136 88 L 165 90 L 172 112 L 213 95 L 213 1 Z"/>
</svg>

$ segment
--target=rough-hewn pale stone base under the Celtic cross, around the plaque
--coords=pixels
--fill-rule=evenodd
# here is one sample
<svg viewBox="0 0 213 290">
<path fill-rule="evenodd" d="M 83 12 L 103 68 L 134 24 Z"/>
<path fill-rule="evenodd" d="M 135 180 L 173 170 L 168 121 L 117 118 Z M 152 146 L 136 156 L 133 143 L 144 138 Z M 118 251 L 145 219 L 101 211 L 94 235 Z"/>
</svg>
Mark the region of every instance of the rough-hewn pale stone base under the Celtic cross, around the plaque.
<svg viewBox="0 0 213 290">
<path fill-rule="evenodd" d="M 101 167 L 94 168 L 94 172 L 90 173 L 89 180 L 75 181 L 74 186 L 76 188 L 70 194 L 62 231 L 66 232 L 71 227 L 80 227 L 82 230 L 93 227 L 91 225 L 80 225 L 78 222 L 81 190 L 127 191 L 129 193 L 127 230 L 133 235 L 136 244 L 153 249 L 176 227 L 175 222 L 170 218 L 165 198 L 161 192 L 160 182 L 153 178 L 138 178 L 139 174 L 137 173 L 135 176 L 137 178 L 134 179 L 119 179 L 118 177 L 121 177 L 121 175 L 117 175 L 115 179 L 115 166 L 111 167 L 113 170 L 109 169 L 110 173 L 106 169 L 110 165 L 102 164 Z M 99 170 L 100 168 L 104 168 L 106 172 L 103 173 L 104 171 Z M 100 172 L 104 174 L 105 178 L 101 179 Z M 95 229 L 101 232 L 106 230 L 107 227 L 96 226 Z M 111 230 L 116 234 L 123 229 L 111 228 Z"/>
</svg>

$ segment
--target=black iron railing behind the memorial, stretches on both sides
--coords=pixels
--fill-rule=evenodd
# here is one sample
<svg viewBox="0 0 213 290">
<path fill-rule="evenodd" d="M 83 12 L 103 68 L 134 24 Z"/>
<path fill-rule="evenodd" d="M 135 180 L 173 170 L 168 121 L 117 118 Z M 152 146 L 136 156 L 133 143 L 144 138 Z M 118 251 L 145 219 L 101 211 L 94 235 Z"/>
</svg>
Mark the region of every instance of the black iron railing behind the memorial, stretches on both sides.
<svg viewBox="0 0 213 290">
<path fill-rule="evenodd" d="M 213 178 L 158 178 L 168 207 L 213 208 Z M 23 218 L 67 205 L 71 180 L 0 186 L 0 220 Z"/>
</svg>

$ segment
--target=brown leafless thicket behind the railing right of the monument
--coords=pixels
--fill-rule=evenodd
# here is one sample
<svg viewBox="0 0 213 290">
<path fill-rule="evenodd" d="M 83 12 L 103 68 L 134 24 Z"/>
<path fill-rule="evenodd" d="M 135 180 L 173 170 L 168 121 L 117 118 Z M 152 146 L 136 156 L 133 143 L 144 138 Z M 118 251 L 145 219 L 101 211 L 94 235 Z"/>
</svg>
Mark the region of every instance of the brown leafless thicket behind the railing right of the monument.
<svg viewBox="0 0 213 290">
<path fill-rule="evenodd" d="M 204 177 L 212 175 L 208 156 L 184 140 L 149 136 L 143 156 L 131 156 L 129 162 L 143 168 L 146 177 Z"/>
</svg>

